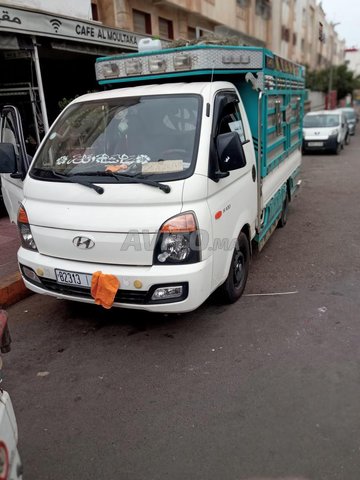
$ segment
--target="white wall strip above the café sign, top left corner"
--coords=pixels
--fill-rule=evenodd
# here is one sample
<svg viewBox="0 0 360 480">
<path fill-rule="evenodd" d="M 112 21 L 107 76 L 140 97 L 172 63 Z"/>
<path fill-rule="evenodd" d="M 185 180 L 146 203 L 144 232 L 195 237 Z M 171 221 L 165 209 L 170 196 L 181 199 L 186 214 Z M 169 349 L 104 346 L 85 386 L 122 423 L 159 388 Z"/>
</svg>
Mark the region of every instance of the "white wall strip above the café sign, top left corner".
<svg viewBox="0 0 360 480">
<path fill-rule="evenodd" d="M 91 0 L 0 0 L 0 8 L 4 5 L 41 10 L 83 20 L 92 19 Z"/>
</svg>

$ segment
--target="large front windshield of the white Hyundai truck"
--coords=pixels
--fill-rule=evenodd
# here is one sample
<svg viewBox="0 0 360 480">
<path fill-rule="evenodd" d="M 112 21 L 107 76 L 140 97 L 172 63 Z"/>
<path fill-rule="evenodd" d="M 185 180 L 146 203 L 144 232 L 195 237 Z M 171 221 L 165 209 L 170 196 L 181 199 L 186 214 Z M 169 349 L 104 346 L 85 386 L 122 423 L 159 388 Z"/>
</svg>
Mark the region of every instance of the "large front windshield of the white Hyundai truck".
<svg viewBox="0 0 360 480">
<path fill-rule="evenodd" d="M 158 95 L 79 102 L 54 124 L 31 175 L 103 176 L 106 183 L 152 176 L 176 180 L 194 170 L 199 95 Z M 106 178 L 105 178 L 106 177 Z"/>
</svg>

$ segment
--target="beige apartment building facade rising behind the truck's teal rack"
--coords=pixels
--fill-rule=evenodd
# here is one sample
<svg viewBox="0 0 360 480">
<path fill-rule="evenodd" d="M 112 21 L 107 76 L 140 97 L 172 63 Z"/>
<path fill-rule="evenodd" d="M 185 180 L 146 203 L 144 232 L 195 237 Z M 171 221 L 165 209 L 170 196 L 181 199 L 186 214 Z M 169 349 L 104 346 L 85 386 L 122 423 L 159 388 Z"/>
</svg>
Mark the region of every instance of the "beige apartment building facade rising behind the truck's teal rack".
<svg viewBox="0 0 360 480">
<path fill-rule="evenodd" d="M 163 39 L 236 35 L 316 70 L 344 63 L 345 43 L 317 0 L 93 0 L 99 20 Z"/>
</svg>

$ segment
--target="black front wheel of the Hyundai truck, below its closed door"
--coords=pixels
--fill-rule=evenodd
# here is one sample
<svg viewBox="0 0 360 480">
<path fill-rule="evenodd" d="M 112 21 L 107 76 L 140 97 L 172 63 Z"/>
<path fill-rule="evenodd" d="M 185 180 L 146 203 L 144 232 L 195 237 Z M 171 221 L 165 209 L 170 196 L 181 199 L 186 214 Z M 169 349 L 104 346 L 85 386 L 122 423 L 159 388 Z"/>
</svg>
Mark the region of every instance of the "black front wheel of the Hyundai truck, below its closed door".
<svg viewBox="0 0 360 480">
<path fill-rule="evenodd" d="M 229 274 L 219 288 L 224 303 L 234 303 L 245 290 L 250 266 L 250 246 L 245 233 L 240 233 L 231 259 Z"/>
</svg>

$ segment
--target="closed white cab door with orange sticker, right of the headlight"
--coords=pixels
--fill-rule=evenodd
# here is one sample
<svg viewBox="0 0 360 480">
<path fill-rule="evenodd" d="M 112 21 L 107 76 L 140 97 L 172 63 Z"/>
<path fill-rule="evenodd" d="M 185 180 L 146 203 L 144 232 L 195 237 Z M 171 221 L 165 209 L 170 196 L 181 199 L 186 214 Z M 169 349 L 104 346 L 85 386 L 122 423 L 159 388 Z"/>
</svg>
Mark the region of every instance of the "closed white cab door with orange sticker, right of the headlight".
<svg viewBox="0 0 360 480">
<path fill-rule="evenodd" d="M 216 138 L 219 134 L 237 132 L 246 158 L 242 168 L 221 174 L 217 172 Z M 210 148 L 208 205 L 212 218 L 213 279 L 225 280 L 235 241 L 246 225 L 251 233 L 257 212 L 256 158 L 249 122 L 241 99 L 235 91 L 220 91 L 214 99 L 212 143 Z"/>
</svg>

